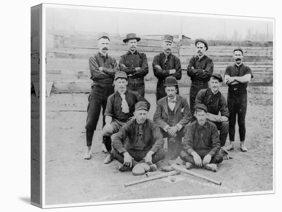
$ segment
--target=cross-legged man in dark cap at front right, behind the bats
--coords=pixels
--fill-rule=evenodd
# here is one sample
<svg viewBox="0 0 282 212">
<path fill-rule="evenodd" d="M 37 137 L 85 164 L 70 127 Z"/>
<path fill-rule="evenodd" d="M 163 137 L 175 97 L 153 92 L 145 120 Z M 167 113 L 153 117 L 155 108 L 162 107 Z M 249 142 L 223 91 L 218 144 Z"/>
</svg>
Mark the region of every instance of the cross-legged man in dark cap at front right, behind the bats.
<svg viewBox="0 0 282 212">
<path fill-rule="evenodd" d="M 202 167 L 216 172 L 217 163 L 223 161 L 220 153 L 220 141 L 216 125 L 207 120 L 205 104 L 195 105 L 197 120 L 185 126 L 184 150 L 180 158 L 186 162 L 186 168 Z"/>
</svg>

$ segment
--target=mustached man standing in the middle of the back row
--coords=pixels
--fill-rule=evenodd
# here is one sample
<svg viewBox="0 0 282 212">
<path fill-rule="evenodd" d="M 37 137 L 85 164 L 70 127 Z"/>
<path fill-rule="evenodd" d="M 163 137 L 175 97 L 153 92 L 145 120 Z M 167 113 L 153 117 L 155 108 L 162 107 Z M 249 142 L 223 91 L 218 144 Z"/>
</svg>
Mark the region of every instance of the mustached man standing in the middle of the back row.
<svg viewBox="0 0 282 212">
<path fill-rule="evenodd" d="M 164 35 L 163 37 L 163 48 L 164 51 L 156 55 L 153 59 L 153 70 L 154 75 L 157 77 L 157 89 L 156 98 L 157 101 L 165 97 L 165 79 L 168 76 L 174 76 L 177 80 L 182 77 L 182 69 L 180 65 L 180 60 L 174 54 L 171 53 L 173 47 L 173 36 Z M 177 94 L 179 94 L 179 89 L 177 87 Z"/>
</svg>

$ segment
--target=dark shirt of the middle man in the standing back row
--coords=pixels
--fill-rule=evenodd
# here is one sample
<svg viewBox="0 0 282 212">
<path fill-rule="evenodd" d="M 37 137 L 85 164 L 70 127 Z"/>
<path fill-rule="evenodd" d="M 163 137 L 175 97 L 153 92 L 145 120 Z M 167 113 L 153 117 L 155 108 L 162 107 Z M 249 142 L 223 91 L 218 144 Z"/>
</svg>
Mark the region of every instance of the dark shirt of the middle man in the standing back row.
<svg viewBox="0 0 282 212">
<path fill-rule="evenodd" d="M 167 57 L 167 58 L 166 58 Z M 159 65 L 158 69 L 155 66 Z M 175 69 L 174 74 L 169 74 L 169 70 Z M 153 70 L 154 75 L 159 79 L 163 80 L 168 76 L 174 76 L 177 80 L 182 77 L 182 69 L 180 64 L 180 59 L 173 54 L 166 55 L 164 52 L 154 56 L 153 59 Z"/>
</svg>

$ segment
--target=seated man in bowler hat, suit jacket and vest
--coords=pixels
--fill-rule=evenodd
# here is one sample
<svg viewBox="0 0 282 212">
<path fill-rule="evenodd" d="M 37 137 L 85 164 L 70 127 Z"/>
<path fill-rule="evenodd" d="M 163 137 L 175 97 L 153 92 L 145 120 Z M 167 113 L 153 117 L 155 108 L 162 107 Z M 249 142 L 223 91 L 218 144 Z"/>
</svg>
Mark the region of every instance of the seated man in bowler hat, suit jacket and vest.
<svg viewBox="0 0 282 212">
<path fill-rule="evenodd" d="M 177 92 L 177 81 L 174 76 L 166 78 L 164 85 L 167 96 L 157 101 L 154 121 L 164 138 L 174 135 L 184 136 L 184 126 L 191 120 L 188 101 Z"/>
</svg>

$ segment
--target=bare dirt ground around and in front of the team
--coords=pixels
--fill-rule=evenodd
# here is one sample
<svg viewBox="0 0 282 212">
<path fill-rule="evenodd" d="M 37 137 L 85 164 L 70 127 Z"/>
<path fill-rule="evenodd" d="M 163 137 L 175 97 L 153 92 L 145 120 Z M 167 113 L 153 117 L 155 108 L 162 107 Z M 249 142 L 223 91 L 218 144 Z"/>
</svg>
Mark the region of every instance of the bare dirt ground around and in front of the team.
<svg viewBox="0 0 282 212">
<path fill-rule="evenodd" d="M 145 96 L 152 102 L 149 118 L 155 111 L 155 94 Z M 186 96 L 188 98 L 188 96 Z M 192 171 L 217 181 L 212 184 L 188 174 L 125 187 L 137 179 L 131 172 L 117 171 L 118 161 L 104 164 L 101 117 L 94 133 L 90 160 L 84 160 L 86 150 L 85 121 L 88 94 L 51 94 L 46 98 L 46 204 L 69 204 L 166 198 L 237 192 L 257 192 L 273 189 L 273 105 L 272 94 L 248 94 L 246 145 L 248 152 L 239 150 L 238 129 L 235 135 L 234 157 L 218 165 L 216 173 L 204 169 Z M 166 149 L 166 144 L 165 144 Z M 167 159 L 158 163 L 166 165 Z"/>
</svg>

